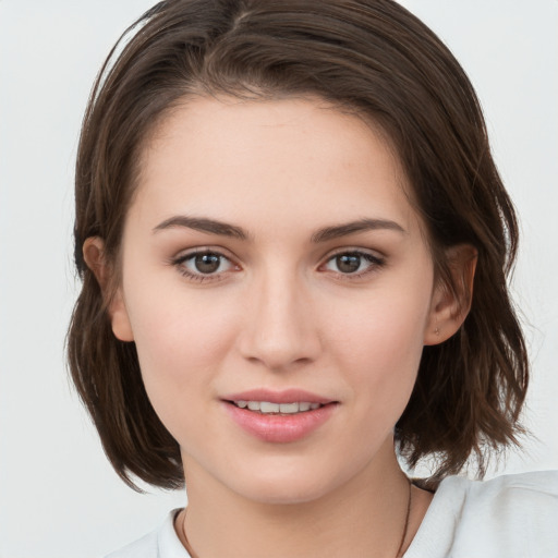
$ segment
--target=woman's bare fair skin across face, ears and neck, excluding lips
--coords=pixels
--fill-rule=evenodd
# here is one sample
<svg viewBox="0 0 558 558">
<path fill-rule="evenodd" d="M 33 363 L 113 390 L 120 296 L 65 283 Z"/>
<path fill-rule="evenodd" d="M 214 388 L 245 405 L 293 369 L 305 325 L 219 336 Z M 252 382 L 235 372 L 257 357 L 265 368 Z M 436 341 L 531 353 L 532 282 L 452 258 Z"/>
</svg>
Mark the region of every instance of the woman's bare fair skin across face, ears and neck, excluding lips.
<svg viewBox="0 0 558 558">
<path fill-rule="evenodd" d="M 393 426 L 423 345 L 464 318 L 435 281 L 405 189 L 383 135 L 315 98 L 190 99 L 146 146 L 110 315 L 114 335 L 135 341 L 147 393 L 180 444 L 198 556 L 396 555 L 409 488 Z M 177 216 L 246 238 L 161 225 Z M 362 219 L 384 225 L 313 240 Z M 218 270 L 201 274 L 187 259 L 195 250 L 220 254 Z M 84 254 L 106 286 L 102 241 L 88 239 Z M 339 254 L 356 257 L 357 271 L 341 269 Z M 470 256 L 453 254 L 463 277 Z M 338 403 L 302 440 L 272 444 L 223 411 L 225 395 L 254 388 Z M 430 498 L 413 487 L 404 548 Z M 184 542 L 183 523 L 181 513 Z"/>
</svg>

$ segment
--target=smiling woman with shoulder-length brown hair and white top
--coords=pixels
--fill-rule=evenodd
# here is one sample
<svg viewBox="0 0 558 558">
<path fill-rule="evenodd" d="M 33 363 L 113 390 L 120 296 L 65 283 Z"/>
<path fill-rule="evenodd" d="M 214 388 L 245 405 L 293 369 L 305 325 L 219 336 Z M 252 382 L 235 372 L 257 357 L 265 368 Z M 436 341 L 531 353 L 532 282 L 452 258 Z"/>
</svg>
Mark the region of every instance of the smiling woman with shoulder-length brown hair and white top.
<svg viewBox="0 0 558 558">
<path fill-rule="evenodd" d="M 138 25 L 82 131 L 69 353 L 117 472 L 189 504 L 113 556 L 556 554 L 555 473 L 451 476 L 517 442 L 529 377 L 451 53 L 386 0 Z"/>
</svg>

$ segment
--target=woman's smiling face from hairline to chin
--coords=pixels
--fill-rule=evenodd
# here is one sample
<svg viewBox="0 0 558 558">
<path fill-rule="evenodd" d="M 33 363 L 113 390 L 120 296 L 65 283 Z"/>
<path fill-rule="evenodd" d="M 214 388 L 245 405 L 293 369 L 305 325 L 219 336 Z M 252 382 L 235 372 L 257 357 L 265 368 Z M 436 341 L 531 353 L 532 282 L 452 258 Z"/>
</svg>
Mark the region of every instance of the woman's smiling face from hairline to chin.
<svg viewBox="0 0 558 558">
<path fill-rule="evenodd" d="M 391 462 L 444 306 L 404 189 L 385 138 L 316 99 L 160 124 L 111 316 L 186 484 L 308 501 Z"/>
</svg>

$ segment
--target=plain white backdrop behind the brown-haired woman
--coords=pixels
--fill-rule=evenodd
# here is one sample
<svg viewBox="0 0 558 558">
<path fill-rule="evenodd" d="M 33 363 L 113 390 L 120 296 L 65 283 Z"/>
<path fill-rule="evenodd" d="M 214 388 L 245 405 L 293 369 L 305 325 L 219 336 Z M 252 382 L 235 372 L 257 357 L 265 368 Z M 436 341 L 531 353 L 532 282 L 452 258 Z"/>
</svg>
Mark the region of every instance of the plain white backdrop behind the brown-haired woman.
<svg viewBox="0 0 558 558">
<path fill-rule="evenodd" d="M 513 292 L 533 362 L 524 422 L 536 439 L 499 473 L 558 468 L 558 1 L 403 3 L 468 71 L 521 216 Z M 0 1 L 0 558 L 102 556 L 184 501 L 118 480 L 63 350 L 81 118 L 109 48 L 150 4 Z"/>
</svg>

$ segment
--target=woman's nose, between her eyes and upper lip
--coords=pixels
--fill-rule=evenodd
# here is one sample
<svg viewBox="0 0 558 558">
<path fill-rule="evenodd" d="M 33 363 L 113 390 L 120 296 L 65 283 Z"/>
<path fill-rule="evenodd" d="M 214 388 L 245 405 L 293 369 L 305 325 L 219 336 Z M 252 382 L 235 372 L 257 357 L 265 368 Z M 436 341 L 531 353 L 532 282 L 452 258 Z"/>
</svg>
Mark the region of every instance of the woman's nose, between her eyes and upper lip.
<svg viewBox="0 0 558 558">
<path fill-rule="evenodd" d="M 286 277 L 287 276 L 287 277 Z M 303 280 L 278 272 L 251 286 L 239 347 L 244 359 L 271 371 L 314 362 L 320 351 L 319 324 Z"/>
</svg>

